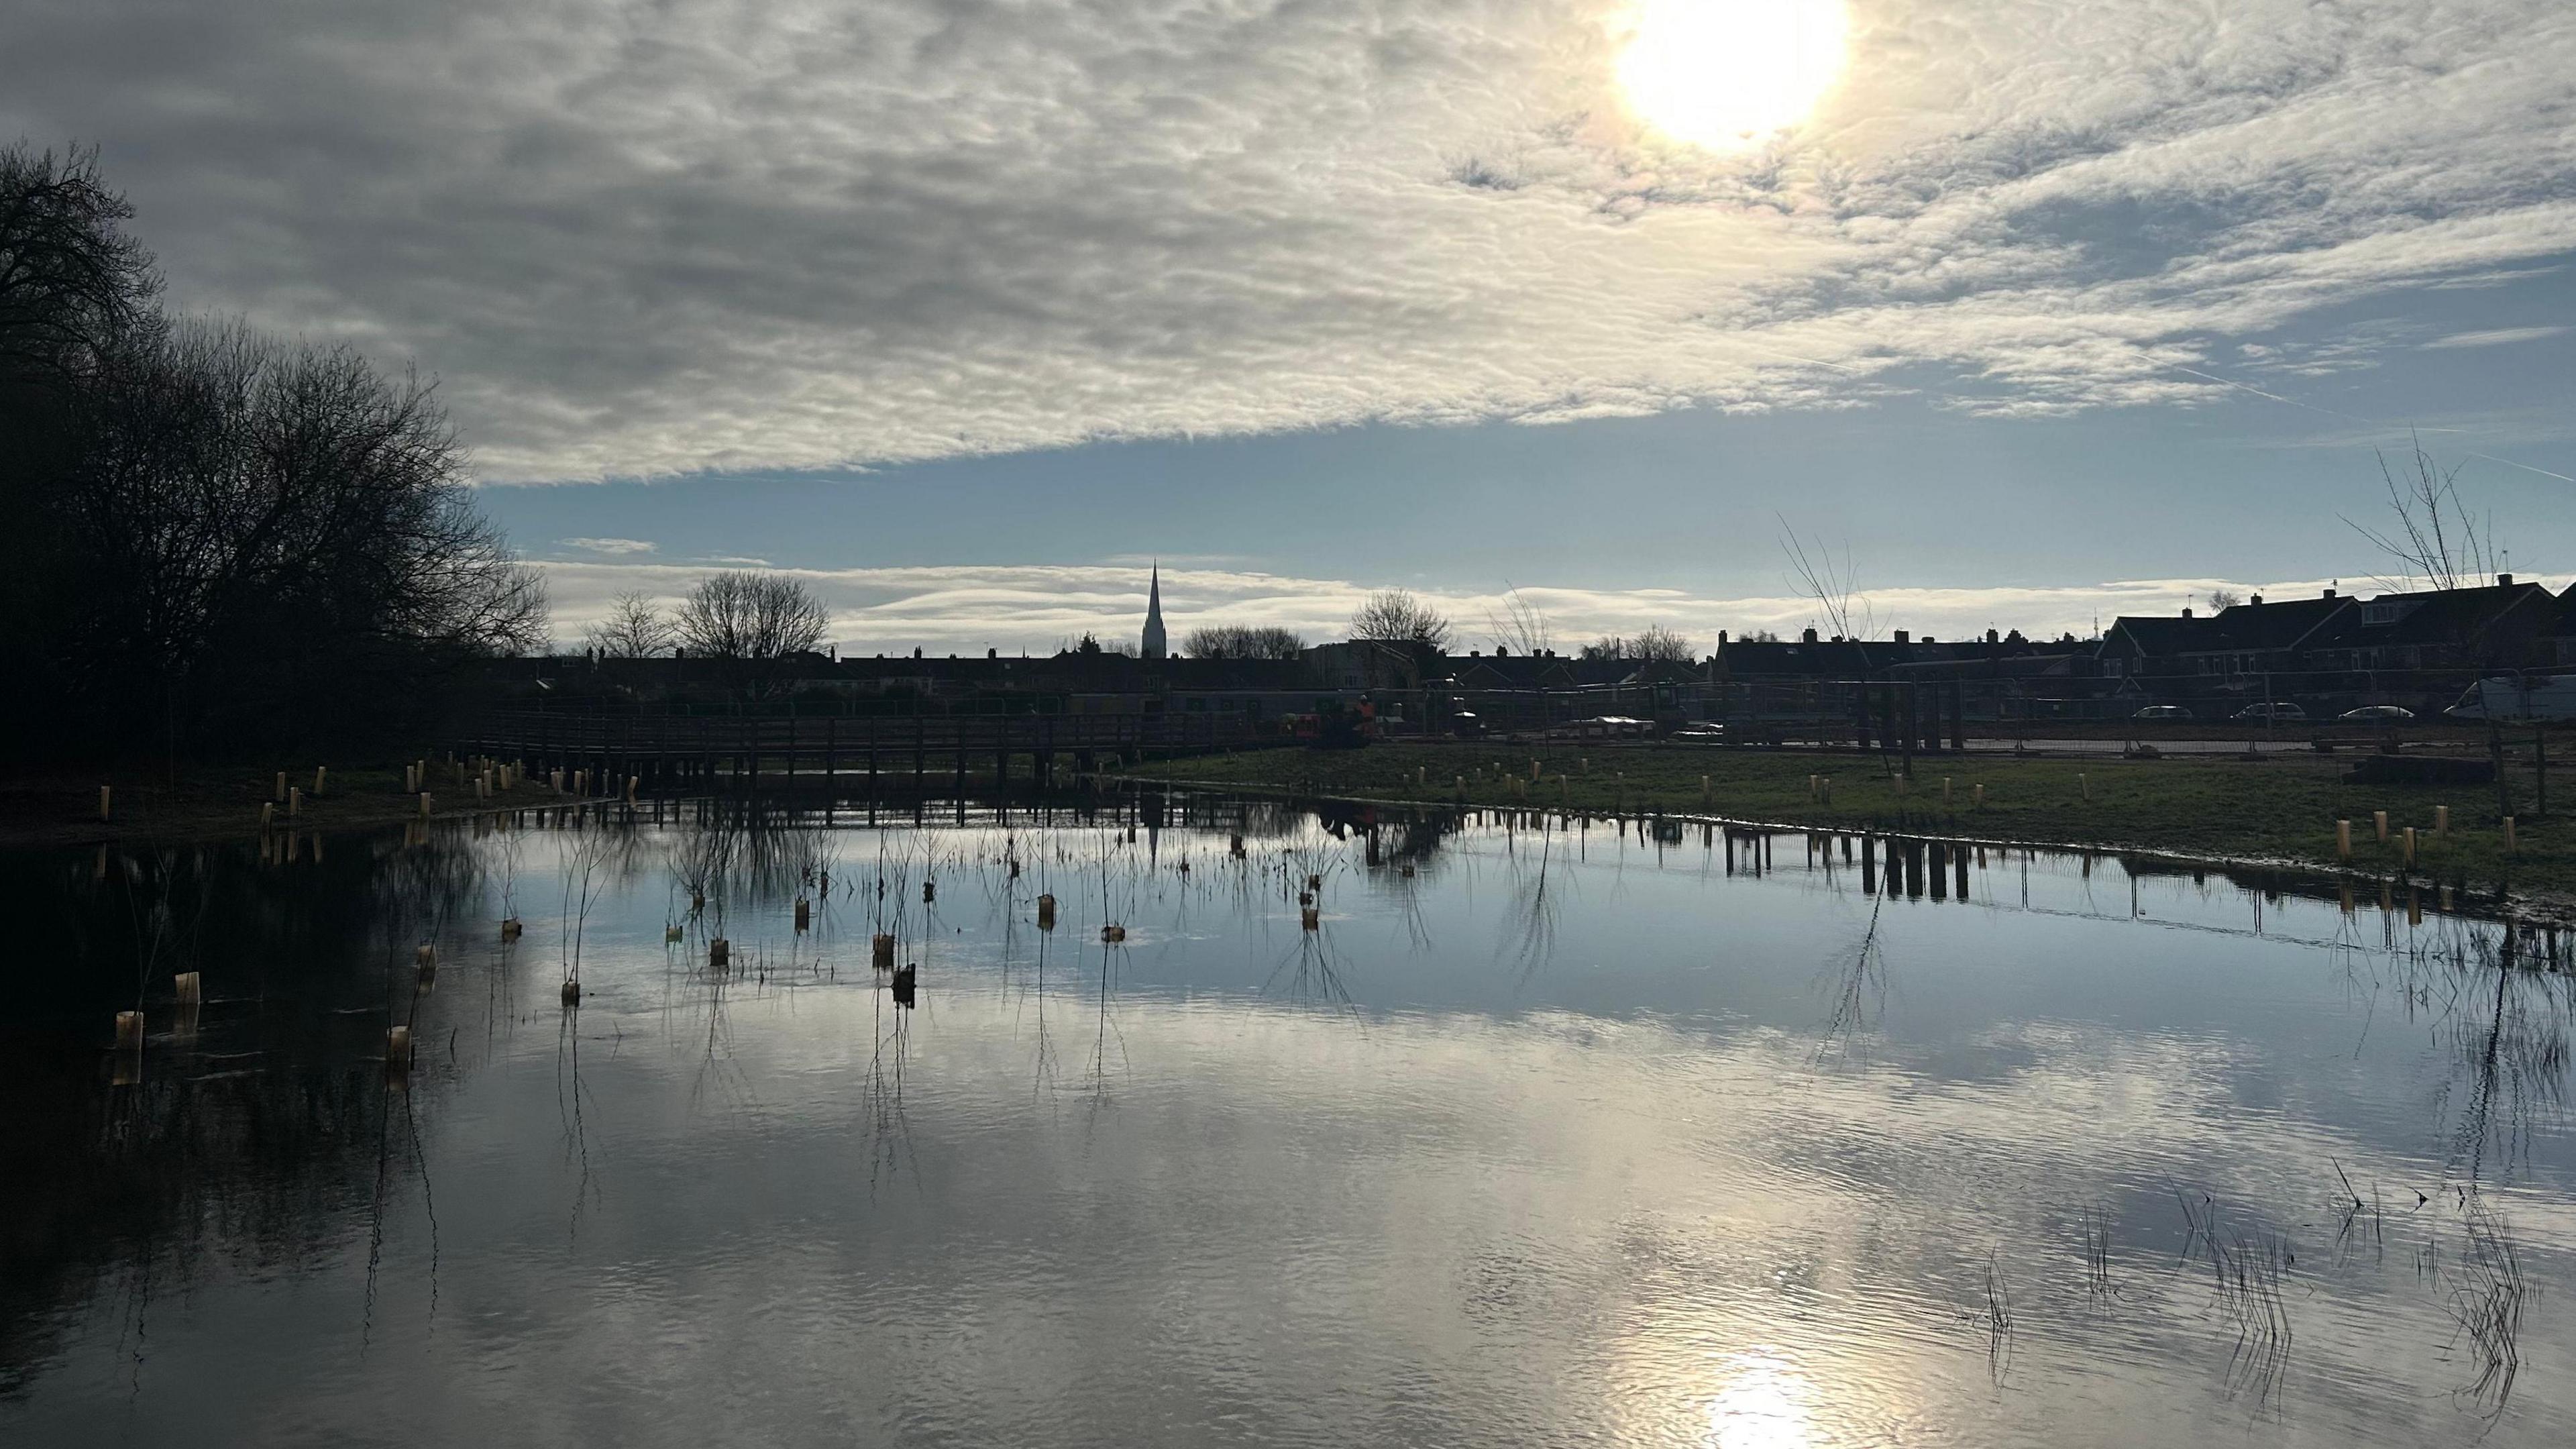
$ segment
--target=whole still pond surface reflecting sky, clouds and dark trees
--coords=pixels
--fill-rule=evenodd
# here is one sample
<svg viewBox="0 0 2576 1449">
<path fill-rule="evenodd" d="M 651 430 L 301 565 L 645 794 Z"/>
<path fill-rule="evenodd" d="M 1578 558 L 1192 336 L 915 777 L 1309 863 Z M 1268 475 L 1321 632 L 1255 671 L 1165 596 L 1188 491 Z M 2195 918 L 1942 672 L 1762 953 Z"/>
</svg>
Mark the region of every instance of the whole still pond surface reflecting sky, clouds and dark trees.
<svg viewBox="0 0 2576 1449">
<path fill-rule="evenodd" d="M 0 1444 L 2576 1441 L 2545 936 L 1190 810 L 10 861 Z"/>
</svg>

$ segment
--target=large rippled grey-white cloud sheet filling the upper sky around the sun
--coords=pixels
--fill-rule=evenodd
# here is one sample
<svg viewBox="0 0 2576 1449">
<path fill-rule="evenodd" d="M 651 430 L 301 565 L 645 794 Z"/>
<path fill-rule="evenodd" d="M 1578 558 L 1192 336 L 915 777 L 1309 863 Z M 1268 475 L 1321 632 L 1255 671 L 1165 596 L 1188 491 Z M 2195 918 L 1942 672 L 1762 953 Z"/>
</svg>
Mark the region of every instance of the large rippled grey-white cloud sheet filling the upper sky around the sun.
<svg viewBox="0 0 2576 1449">
<path fill-rule="evenodd" d="M 2576 245 L 2563 0 L 1852 0 L 1713 157 L 1607 0 L 15 0 L 185 307 L 415 358 L 495 480 L 1352 420 L 2192 402 Z M 1899 371 L 1904 369 L 1904 371 Z"/>
</svg>

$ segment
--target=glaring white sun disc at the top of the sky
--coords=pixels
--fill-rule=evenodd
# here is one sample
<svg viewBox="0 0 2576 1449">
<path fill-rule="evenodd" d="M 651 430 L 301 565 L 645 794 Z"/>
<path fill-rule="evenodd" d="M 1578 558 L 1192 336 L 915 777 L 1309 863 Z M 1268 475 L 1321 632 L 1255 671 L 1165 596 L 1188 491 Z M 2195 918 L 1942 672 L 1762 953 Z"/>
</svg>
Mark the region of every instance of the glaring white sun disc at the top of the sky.
<svg viewBox="0 0 2576 1449">
<path fill-rule="evenodd" d="M 1618 83 L 1677 142 L 1759 144 L 1842 75 L 1847 23 L 1842 0 L 1641 0 Z"/>
</svg>

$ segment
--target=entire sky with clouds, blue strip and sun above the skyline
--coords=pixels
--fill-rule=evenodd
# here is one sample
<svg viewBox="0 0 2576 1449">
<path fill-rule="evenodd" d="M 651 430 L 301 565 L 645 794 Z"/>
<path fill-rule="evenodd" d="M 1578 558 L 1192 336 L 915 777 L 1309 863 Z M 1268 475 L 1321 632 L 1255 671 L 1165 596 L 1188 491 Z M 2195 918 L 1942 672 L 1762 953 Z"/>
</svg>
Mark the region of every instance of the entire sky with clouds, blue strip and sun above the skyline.
<svg viewBox="0 0 2576 1449">
<path fill-rule="evenodd" d="M 845 652 L 2576 570 L 2563 0 L 13 0 L 183 312 L 438 379 L 556 632 Z"/>
</svg>

